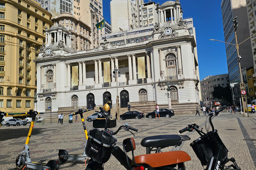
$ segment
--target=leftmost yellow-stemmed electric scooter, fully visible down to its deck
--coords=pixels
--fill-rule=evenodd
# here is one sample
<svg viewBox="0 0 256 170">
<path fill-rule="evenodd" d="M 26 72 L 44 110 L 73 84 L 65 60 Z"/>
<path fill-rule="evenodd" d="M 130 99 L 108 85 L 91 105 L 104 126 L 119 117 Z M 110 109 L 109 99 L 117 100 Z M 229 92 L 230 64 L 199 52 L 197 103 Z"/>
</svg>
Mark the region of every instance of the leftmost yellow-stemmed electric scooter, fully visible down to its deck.
<svg viewBox="0 0 256 170">
<path fill-rule="evenodd" d="M 25 114 L 29 114 L 32 117 L 32 121 L 29 126 L 28 135 L 26 139 L 25 146 L 23 148 L 23 151 L 21 151 L 20 155 L 16 158 L 15 164 L 18 169 L 23 169 L 25 166 L 28 168 L 38 169 L 38 170 L 57 170 L 59 169 L 59 161 L 58 160 L 50 160 L 47 164 L 45 163 L 37 163 L 32 162 L 30 158 L 30 151 L 29 151 L 29 140 L 31 137 L 32 130 L 34 128 L 34 123 L 36 119 L 36 115 L 39 113 L 36 111 L 33 111 L 32 109 Z M 40 113 L 44 114 L 44 113 Z"/>
</svg>

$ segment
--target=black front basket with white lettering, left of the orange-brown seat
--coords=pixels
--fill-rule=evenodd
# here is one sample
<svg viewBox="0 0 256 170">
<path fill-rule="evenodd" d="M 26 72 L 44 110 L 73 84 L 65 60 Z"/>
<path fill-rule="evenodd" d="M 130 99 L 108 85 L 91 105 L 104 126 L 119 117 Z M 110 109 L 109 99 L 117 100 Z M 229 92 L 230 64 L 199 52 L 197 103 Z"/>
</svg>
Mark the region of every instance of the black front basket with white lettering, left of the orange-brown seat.
<svg viewBox="0 0 256 170">
<path fill-rule="evenodd" d="M 116 145 L 116 138 L 101 129 L 93 129 L 88 133 L 85 153 L 92 160 L 106 163 Z"/>
</svg>

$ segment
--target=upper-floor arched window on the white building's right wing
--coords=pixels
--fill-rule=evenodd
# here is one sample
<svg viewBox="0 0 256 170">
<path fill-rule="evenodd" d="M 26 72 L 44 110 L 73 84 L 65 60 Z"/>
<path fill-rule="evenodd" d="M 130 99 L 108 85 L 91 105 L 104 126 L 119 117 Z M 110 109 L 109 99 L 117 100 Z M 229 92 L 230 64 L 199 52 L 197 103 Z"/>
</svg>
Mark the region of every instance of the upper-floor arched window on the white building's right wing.
<svg viewBox="0 0 256 170">
<path fill-rule="evenodd" d="M 177 79 L 177 60 L 174 54 L 165 57 L 167 79 Z"/>
</svg>

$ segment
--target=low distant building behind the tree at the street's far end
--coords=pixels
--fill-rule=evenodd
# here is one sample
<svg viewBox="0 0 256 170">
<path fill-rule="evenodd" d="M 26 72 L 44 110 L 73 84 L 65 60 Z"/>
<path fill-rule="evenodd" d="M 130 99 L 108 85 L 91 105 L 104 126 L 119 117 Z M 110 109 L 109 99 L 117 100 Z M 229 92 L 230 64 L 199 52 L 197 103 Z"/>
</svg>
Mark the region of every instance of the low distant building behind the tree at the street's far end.
<svg viewBox="0 0 256 170">
<path fill-rule="evenodd" d="M 212 92 L 214 91 L 214 87 L 227 87 L 229 86 L 228 74 L 220 74 L 213 75 L 204 78 L 200 81 L 201 84 L 201 97 L 203 103 L 207 107 L 211 106 L 211 102 L 213 104 L 214 101 L 221 101 L 221 104 L 226 104 L 226 101 L 223 99 L 214 98 L 212 96 Z"/>
</svg>

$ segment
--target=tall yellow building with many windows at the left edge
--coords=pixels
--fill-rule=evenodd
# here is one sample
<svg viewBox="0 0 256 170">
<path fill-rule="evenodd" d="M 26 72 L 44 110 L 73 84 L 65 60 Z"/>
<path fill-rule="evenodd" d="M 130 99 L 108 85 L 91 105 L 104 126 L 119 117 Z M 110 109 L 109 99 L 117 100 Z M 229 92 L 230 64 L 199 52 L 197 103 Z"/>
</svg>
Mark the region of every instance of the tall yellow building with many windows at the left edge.
<svg viewBox="0 0 256 170">
<path fill-rule="evenodd" d="M 0 1 L 0 111 L 34 108 L 36 65 L 51 13 L 34 0 Z"/>
</svg>

